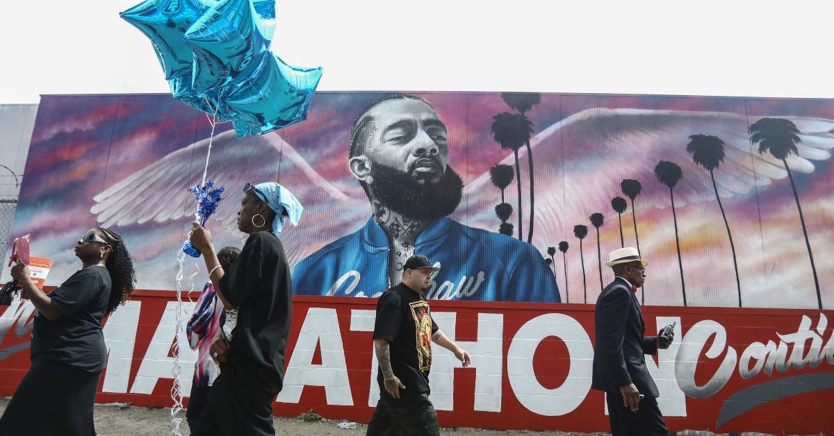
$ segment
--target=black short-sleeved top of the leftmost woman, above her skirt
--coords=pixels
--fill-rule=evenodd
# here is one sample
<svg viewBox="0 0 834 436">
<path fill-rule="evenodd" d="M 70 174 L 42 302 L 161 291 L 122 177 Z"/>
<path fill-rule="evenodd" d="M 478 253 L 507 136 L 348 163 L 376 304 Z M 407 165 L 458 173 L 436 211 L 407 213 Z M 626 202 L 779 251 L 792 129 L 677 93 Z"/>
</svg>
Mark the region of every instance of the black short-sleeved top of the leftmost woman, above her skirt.
<svg viewBox="0 0 834 436">
<path fill-rule="evenodd" d="M 52 305 L 63 316 L 48 320 L 36 312 L 32 329 L 32 361 L 63 363 L 85 371 L 104 368 L 102 318 L 110 300 L 110 273 L 93 266 L 74 273 L 49 293 Z"/>
</svg>

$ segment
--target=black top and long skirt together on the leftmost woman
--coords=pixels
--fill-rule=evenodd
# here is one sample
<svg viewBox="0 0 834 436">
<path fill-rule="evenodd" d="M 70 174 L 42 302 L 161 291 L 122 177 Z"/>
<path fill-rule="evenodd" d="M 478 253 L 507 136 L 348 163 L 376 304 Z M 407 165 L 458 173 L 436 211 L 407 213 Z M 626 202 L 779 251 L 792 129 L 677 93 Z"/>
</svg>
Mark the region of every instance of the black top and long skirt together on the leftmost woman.
<svg viewBox="0 0 834 436">
<path fill-rule="evenodd" d="M 93 266 L 49 293 L 63 316 L 50 321 L 35 313 L 32 368 L 0 418 L 0 434 L 95 434 L 93 403 L 107 358 L 101 322 L 110 291 L 108 270 Z"/>
</svg>

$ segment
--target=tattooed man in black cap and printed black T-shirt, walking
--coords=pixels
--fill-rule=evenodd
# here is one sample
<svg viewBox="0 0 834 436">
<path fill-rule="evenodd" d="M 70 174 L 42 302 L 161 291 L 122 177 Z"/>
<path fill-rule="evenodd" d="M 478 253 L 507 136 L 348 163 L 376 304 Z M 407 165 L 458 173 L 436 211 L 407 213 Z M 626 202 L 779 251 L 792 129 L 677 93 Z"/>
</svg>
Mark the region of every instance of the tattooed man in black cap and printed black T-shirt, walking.
<svg viewBox="0 0 834 436">
<path fill-rule="evenodd" d="M 433 268 L 415 255 L 403 265 L 403 280 L 376 303 L 374 351 L 379 360 L 379 403 L 368 424 L 368 435 L 440 435 L 437 413 L 429 399 L 431 343 L 455 353 L 464 367 L 470 354 L 447 337 L 431 318 L 423 293 Z"/>
</svg>

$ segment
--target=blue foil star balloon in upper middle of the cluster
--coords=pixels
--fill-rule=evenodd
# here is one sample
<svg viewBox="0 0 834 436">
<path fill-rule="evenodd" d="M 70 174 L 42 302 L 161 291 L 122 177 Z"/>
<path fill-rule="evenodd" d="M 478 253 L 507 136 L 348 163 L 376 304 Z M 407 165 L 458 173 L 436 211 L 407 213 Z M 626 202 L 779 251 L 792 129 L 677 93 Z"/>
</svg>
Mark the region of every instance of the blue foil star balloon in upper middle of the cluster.
<svg viewBox="0 0 834 436">
<path fill-rule="evenodd" d="M 249 0 L 224 0 L 208 9 L 185 33 L 193 51 L 191 88 L 224 86 L 254 71 L 267 52 Z"/>
</svg>

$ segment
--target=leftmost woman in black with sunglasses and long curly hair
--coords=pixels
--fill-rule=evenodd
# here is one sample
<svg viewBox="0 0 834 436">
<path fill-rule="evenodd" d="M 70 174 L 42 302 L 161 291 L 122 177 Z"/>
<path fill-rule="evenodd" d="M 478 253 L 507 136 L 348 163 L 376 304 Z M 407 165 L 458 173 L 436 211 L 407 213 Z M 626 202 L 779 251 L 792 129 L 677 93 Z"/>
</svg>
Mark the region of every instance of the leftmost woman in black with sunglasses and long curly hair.
<svg viewBox="0 0 834 436">
<path fill-rule="evenodd" d="M 51 293 L 29 278 L 23 263 L 12 278 L 37 312 L 32 367 L 0 418 L 0 434 L 95 434 L 93 402 L 107 358 L 102 318 L 128 301 L 136 283 L 122 237 L 92 228 L 75 245 L 81 269 Z"/>
</svg>

